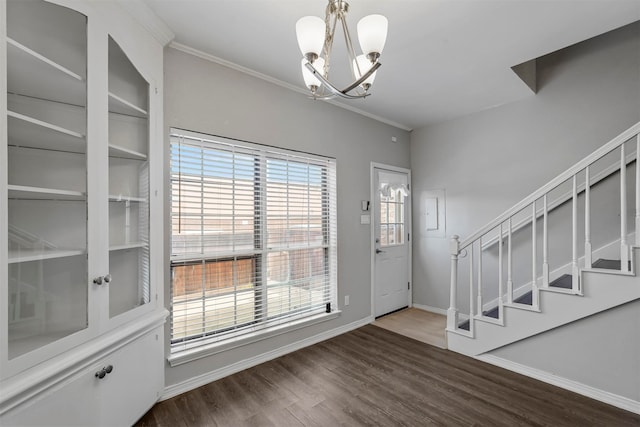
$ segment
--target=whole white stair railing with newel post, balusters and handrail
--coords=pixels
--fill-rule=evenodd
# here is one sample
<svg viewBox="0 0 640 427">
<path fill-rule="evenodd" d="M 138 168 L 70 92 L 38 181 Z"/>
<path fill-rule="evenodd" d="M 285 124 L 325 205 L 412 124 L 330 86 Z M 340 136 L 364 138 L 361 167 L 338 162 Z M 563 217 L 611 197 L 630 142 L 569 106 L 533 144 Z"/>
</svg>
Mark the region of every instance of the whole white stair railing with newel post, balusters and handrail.
<svg viewBox="0 0 640 427">
<path fill-rule="evenodd" d="M 513 272 L 513 244 L 512 237 L 515 232 L 512 228 L 512 224 L 515 221 L 516 215 L 524 209 L 530 208 L 531 215 L 530 220 L 527 220 L 531 224 L 531 298 L 532 303 L 531 310 L 539 310 L 539 291 L 540 289 L 549 289 L 549 226 L 548 226 L 548 213 L 552 209 L 548 204 L 549 193 L 559 187 L 565 182 L 571 182 L 571 289 L 560 289 L 559 291 L 582 294 L 580 283 L 580 270 L 579 265 L 579 253 L 578 253 L 578 175 L 584 171 L 584 262 L 582 268 L 591 268 L 593 265 L 593 248 L 591 240 L 591 186 L 592 183 L 592 165 L 598 160 L 602 159 L 606 155 L 610 154 L 616 149 L 620 149 L 620 162 L 615 172 L 620 173 L 620 269 L 622 272 L 629 271 L 629 259 L 630 259 L 630 247 L 628 242 L 628 224 L 627 224 L 627 165 L 629 159 L 626 158 L 625 143 L 635 138 L 635 163 L 636 163 L 636 176 L 635 176 L 635 242 L 636 246 L 640 246 L 640 122 L 633 125 L 611 141 L 594 151 L 591 155 L 587 156 L 580 162 L 576 163 L 571 168 L 567 169 L 564 173 L 557 176 L 555 179 L 549 181 L 546 185 L 542 186 L 537 191 L 533 192 L 528 197 L 524 198 L 511 209 L 507 210 L 489 224 L 476 231 L 473 235 L 467 239 L 460 241 L 458 236 L 453 236 L 450 244 L 451 254 L 451 287 L 450 287 L 450 305 L 447 310 L 447 330 L 451 332 L 461 333 L 463 335 L 473 336 L 474 322 L 476 319 L 484 318 L 483 312 L 487 301 L 483 300 L 483 265 L 482 265 L 482 252 L 483 241 L 494 241 L 498 243 L 498 271 L 497 271 L 497 300 L 495 306 L 498 307 L 498 323 L 503 321 L 503 303 L 507 305 L 514 304 L 514 272 Z M 570 180 L 570 181 L 569 181 Z M 536 202 L 542 199 L 542 262 L 538 265 L 537 258 L 537 220 L 540 217 L 539 211 L 536 209 Z M 504 230 L 506 223 L 506 231 Z M 522 222 L 519 224 L 519 228 L 522 226 Z M 494 235 L 494 231 L 497 230 L 497 237 Z M 506 294 L 503 289 L 503 242 L 506 239 Z M 478 247 L 478 256 L 476 259 L 477 264 L 477 278 L 474 280 L 474 245 Z M 460 310 L 458 308 L 458 263 L 460 258 L 463 258 L 464 254 L 469 254 L 469 323 L 463 329 L 459 327 Z M 538 276 L 538 269 L 541 269 L 541 278 Z M 540 283 L 540 286 L 538 286 Z M 475 284 L 475 286 L 474 286 Z M 475 307 L 474 307 L 475 305 Z M 522 308 L 521 304 L 518 304 Z M 487 320 L 486 318 L 484 320 Z M 496 319 L 489 319 L 495 321 Z M 465 322 L 466 323 L 466 322 Z"/>
</svg>

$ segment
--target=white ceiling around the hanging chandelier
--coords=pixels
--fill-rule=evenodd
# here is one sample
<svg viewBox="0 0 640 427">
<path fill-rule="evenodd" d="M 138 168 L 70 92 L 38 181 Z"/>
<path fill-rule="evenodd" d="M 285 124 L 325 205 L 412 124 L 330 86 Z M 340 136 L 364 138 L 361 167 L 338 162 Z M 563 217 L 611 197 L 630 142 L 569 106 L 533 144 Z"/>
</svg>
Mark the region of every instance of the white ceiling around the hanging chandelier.
<svg viewBox="0 0 640 427">
<path fill-rule="evenodd" d="M 305 15 L 324 18 L 327 0 L 144 1 L 173 31 L 176 46 L 305 90 L 295 24 Z M 351 0 L 350 6 L 353 37 L 357 21 L 371 13 L 388 18 L 389 34 L 372 95 L 334 102 L 406 130 L 533 96 L 512 66 L 640 20 L 640 0 Z M 351 82 L 343 44 L 336 37 L 330 80 L 338 87 Z"/>
</svg>

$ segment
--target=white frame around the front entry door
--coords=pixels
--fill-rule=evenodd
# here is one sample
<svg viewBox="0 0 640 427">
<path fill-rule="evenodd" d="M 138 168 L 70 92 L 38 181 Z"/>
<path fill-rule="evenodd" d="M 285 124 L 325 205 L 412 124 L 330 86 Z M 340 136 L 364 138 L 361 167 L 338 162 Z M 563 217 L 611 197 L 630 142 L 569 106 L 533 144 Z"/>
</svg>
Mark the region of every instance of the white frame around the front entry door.
<svg viewBox="0 0 640 427">
<path fill-rule="evenodd" d="M 411 184 L 411 169 L 407 169 L 407 168 L 401 168 L 398 166 L 391 166 L 391 165 L 387 165 L 384 163 L 377 163 L 377 162 L 371 162 L 371 166 L 370 166 L 370 180 L 369 180 L 369 189 L 370 189 L 370 193 L 369 193 L 369 206 L 370 206 L 370 215 L 371 215 L 371 226 L 370 228 L 370 240 L 369 240 L 369 256 L 370 256 L 370 265 L 371 265 L 371 318 L 375 319 L 375 309 L 376 309 L 376 273 L 375 273 L 375 261 L 376 261 L 376 257 L 375 257 L 375 215 L 376 215 L 376 209 L 375 209 L 375 191 L 377 191 L 378 189 L 375 188 L 375 180 L 376 180 L 376 176 L 375 176 L 375 170 L 376 169 L 383 169 L 383 170 L 388 170 L 391 172 L 398 172 L 398 173 L 405 173 L 407 174 L 407 182 L 409 183 L 409 195 L 407 196 L 407 200 L 405 202 L 405 213 L 407 214 L 407 218 L 406 218 L 406 232 L 408 233 L 408 240 L 407 243 L 409 245 L 409 254 L 408 254 L 408 259 L 407 259 L 407 277 L 409 278 L 409 292 L 408 292 L 408 298 L 407 298 L 407 306 L 408 307 L 412 307 L 413 306 L 413 275 L 412 273 L 412 258 L 413 258 L 413 227 L 412 227 L 412 217 L 413 217 L 413 209 L 412 209 L 412 199 L 413 199 L 413 190 L 412 190 L 412 184 Z"/>
</svg>

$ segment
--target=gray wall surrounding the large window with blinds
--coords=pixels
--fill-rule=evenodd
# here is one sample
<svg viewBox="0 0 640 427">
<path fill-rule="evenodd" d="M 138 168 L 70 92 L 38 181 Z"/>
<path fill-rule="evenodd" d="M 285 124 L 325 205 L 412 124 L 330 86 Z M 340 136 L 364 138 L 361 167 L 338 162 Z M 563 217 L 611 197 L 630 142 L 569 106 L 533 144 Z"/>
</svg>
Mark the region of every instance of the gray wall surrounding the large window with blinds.
<svg viewBox="0 0 640 427">
<path fill-rule="evenodd" d="M 167 366 L 166 386 L 368 318 L 370 229 L 360 225 L 360 200 L 369 199 L 372 161 L 409 167 L 409 133 L 175 49 L 166 49 L 164 66 L 166 158 L 169 128 L 178 127 L 337 159 L 339 305 L 350 295 L 350 305 L 341 307 L 342 315 L 332 321 L 175 368 Z M 168 185 L 168 165 L 165 177 Z M 165 209 L 168 218 L 168 203 Z M 168 242 L 170 227 L 165 228 Z M 167 282 L 167 306 L 169 289 Z"/>
</svg>

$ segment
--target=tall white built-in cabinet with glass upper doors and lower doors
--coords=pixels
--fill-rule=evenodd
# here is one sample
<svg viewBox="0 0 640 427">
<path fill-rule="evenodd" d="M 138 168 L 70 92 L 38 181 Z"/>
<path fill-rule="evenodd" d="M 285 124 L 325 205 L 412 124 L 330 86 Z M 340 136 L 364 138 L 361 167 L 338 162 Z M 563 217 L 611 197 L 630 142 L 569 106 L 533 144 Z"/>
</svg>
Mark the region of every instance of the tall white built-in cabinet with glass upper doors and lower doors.
<svg viewBox="0 0 640 427">
<path fill-rule="evenodd" d="M 0 424 L 131 423 L 163 386 L 163 46 L 117 2 L 0 8 Z"/>
</svg>

